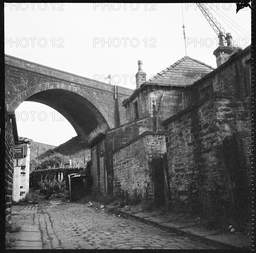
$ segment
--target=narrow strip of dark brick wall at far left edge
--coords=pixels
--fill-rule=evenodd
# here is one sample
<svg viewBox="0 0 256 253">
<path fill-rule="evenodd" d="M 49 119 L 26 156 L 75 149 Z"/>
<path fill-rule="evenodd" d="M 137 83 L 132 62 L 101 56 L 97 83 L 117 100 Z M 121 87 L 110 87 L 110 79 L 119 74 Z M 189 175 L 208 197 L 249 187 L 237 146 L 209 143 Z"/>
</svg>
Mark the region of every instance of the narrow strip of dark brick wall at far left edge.
<svg viewBox="0 0 256 253">
<path fill-rule="evenodd" d="M 14 168 L 14 138 L 12 123 L 6 111 L 5 114 L 5 199 L 6 225 L 11 224 L 12 215 L 12 183 Z"/>
</svg>

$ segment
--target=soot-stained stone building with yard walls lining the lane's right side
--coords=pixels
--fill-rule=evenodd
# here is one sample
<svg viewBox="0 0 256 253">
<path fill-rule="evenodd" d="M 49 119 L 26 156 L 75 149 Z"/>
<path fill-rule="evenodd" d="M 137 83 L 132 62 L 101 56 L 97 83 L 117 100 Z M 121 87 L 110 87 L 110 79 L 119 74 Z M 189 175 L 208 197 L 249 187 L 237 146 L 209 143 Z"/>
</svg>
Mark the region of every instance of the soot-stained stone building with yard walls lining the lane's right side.
<svg viewBox="0 0 256 253">
<path fill-rule="evenodd" d="M 148 81 L 138 61 L 137 88 L 122 104 L 126 123 L 90 144 L 95 190 L 133 202 L 162 195 L 160 204 L 178 196 L 201 201 L 204 212 L 214 190 L 233 205 L 239 190 L 248 194 L 250 46 L 220 45 L 214 55 L 217 69 L 185 56 Z"/>
</svg>

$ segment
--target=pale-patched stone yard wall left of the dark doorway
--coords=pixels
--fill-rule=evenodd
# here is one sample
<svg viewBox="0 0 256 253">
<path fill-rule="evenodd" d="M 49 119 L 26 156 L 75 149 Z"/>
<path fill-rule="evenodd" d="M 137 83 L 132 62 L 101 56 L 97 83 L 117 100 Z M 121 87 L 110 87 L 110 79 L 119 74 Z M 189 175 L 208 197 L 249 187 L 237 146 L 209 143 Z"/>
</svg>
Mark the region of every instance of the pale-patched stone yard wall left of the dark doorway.
<svg viewBox="0 0 256 253">
<path fill-rule="evenodd" d="M 113 153 L 114 194 L 131 202 L 154 201 L 152 168 L 154 155 L 166 152 L 165 136 L 145 132 Z"/>
</svg>

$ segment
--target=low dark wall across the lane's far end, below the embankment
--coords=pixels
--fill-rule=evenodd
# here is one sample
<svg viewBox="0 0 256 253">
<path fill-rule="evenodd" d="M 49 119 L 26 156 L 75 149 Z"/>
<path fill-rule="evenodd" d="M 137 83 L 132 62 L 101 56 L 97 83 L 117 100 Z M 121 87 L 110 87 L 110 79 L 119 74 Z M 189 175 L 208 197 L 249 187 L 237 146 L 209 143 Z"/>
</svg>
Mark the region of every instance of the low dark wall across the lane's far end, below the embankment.
<svg viewBox="0 0 256 253">
<path fill-rule="evenodd" d="M 88 175 L 86 167 L 79 168 L 53 168 L 53 169 L 43 169 L 43 170 L 34 170 L 30 173 L 30 187 L 37 188 L 39 187 L 39 182 L 41 180 L 53 180 L 56 178 L 56 174 L 63 172 L 63 180 L 65 180 L 66 186 L 68 187 L 68 175 L 72 173 L 80 173 L 83 175 Z"/>
</svg>

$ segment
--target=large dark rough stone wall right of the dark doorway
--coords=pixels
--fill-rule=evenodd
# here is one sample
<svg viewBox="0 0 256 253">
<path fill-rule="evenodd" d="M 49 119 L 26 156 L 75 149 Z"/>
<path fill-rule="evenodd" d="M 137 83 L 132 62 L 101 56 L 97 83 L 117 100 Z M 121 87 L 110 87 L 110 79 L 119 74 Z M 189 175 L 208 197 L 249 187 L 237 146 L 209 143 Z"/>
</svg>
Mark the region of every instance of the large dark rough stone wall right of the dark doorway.
<svg viewBox="0 0 256 253">
<path fill-rule="evenodd" d="M 209 192 L 217 191 L 225 203 L 232 199 L 223 140 L 234 132 L 250 131 L 248 106 L 232 98 L 204 99 L 168 119 L 165 130 L 173 199 L 184 200 L 202 213 L 213 205 Z"/>
</svg>

